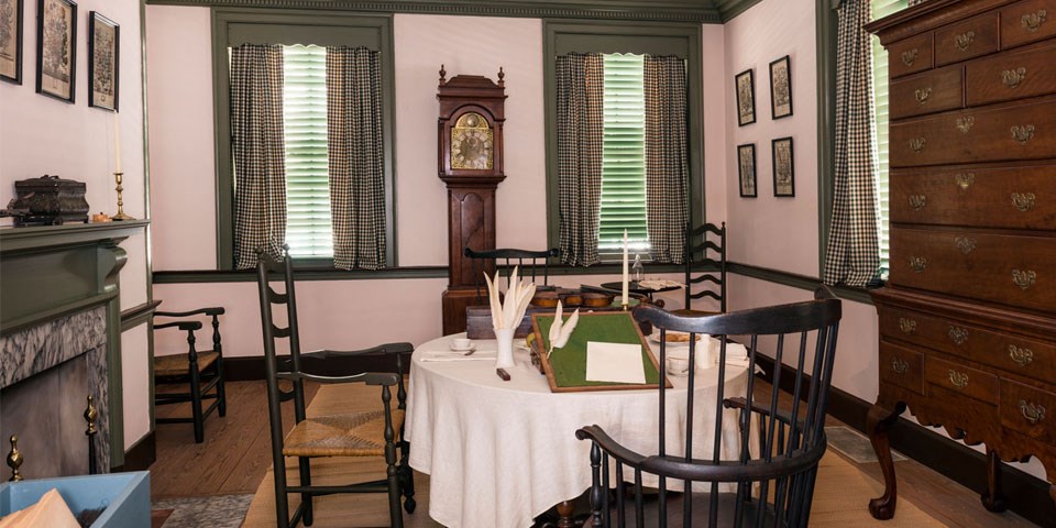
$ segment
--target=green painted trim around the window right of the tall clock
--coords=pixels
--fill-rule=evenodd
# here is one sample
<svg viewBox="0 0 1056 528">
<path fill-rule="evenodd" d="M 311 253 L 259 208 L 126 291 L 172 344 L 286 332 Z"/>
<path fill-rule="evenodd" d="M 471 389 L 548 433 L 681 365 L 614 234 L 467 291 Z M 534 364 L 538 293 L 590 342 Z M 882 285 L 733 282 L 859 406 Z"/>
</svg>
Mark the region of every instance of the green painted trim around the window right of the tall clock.
<svg viewBox="0 0 1056 528">
<path fill-rule="evenodd" d="M 704 215 L 704 133 L 701 123 L 703 82 L 701 25 L 624 21 L 543 20 L 543 101 L 547 130 L 547 241 L 560 243 L 558 226 L 558 125 L 554 63 L 568 53 L 647 53 L 678 55 L 686 61 L 689 78 L 690 219 L 696 224 Z M 603 255 L 604 258 L 604 255 Z"/>
</svg>

